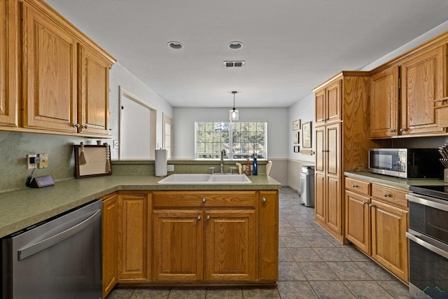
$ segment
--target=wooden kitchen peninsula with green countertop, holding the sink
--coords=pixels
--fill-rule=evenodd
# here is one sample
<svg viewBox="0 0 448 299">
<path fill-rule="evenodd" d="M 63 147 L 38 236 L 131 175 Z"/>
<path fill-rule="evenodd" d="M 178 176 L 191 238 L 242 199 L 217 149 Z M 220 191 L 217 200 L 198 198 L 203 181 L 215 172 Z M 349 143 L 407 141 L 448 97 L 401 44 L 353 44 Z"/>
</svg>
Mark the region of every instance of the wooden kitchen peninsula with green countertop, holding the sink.
<svg viewBox="0 0 448 299">
<path fill-rule="evenodd" d="M 102 199 L 104 296 L 117 283 L 274 285 L 281 185 L 249 178 L 162 185 L 151 174 L 113 174 L 3 193 L 0 237 Z"/>
</svg>

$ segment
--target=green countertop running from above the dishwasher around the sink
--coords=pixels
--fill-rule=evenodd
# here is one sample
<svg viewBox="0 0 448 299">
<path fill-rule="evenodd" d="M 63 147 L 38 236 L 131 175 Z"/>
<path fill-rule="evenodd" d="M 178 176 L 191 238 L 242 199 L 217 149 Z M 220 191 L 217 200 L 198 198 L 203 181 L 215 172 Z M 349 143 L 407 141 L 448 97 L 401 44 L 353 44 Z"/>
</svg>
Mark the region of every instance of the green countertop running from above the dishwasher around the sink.
<svg viewBox="0 0 448 299">
<path fill-rule="evenodd" d="M 111 175 L 57 181 L 54 186 L 0 193 L 0 237 L 27 228 L 117 190 L 273 190 L 269 176 L 249 176 L 250 184 L 160 185 L 153 175 Z"/>
</svg>

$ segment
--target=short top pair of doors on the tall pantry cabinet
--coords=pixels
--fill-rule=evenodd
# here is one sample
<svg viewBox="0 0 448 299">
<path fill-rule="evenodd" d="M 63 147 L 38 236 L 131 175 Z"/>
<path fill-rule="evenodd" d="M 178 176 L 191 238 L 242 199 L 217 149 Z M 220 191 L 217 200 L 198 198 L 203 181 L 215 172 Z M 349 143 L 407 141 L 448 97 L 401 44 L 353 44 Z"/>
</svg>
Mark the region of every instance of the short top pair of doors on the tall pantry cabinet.
<svg viewBox="0 0 448 299">
<path fill-rule="evenodd" d="M 341 120 L 342 81 L 337 80 L 316 92 L 316 125 Z"/>
</svg>

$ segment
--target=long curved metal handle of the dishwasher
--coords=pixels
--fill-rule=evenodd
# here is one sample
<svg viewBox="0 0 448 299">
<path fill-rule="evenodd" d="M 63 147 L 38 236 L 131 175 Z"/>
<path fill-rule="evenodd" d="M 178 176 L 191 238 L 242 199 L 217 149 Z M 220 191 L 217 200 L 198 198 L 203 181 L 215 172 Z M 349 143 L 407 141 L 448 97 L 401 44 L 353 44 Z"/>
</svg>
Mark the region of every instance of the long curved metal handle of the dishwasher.
<svg viewBox="0 0 448 299">
<path fill-rule="evenodd" d="M 72 225 L 70 228 L 63 230 L 62 232 L 58 232 L 55 235 L 52 235 L 46 239 L 43 239 L 34 244 L 28 244 L 26 247 L 23 247 L 18 250 L 19 260 L 24 260 L 33 254 L 38 253 L 39 251 L 43 251 L 50 246 L 53 246 L 59 242 L 62 242 L 64 239 L 71 237 L 72 235 L 76 235 L 81 230 L 87 228 L 90 224 L 94 223 L 99 217 L 101 217 L 101 209 L 94 211 L 90 214 L 87 214 L 88 218 L 85 218 L 83 221 Z"/>
</svg>

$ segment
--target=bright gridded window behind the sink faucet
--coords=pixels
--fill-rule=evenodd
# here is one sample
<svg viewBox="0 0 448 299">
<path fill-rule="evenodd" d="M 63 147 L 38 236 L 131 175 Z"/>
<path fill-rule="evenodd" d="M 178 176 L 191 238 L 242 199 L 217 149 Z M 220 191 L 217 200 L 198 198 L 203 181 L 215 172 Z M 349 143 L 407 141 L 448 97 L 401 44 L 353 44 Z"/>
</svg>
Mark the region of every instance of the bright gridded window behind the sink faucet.
<svg viewBox="0 0 448 299">
<path fill-rule="evenodd" d="M 195 158 L 219 159 L 221 150 L 225 159 L 267 158 L 267 122 L 195 122 Z"/>
</svg>

